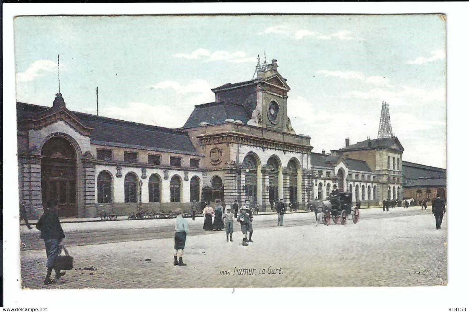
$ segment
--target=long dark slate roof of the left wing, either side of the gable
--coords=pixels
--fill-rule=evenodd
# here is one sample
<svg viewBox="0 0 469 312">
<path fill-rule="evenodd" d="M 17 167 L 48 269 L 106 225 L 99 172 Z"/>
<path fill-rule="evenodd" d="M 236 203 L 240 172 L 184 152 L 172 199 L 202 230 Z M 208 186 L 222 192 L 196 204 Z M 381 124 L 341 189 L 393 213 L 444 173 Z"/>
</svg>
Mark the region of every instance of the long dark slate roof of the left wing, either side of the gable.
<svg viewBox="0 0 469 312">
<path fill-rule="evenodd" d="M 17 103 L 17 119 L 45 112 L 50 107 L 27 103 Z M 73 112 L 83 124 L 93 128 L 91 143 L 108 142 L 125 145 L 139 145 L 164 150 L 196 153 L 189 134 L 175 130 L 138 122 L 112 119 L 103 116 Z"/>
</svg>

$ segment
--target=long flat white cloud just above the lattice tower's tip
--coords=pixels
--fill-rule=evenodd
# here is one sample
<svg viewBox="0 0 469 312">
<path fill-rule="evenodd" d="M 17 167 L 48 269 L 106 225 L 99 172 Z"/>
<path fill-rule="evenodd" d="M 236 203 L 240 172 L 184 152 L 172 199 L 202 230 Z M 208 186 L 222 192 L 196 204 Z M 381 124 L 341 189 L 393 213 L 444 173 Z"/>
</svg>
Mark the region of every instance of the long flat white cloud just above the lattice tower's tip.
<svg viewBox="0 0 469 312">
<path fill-rule="evenodd" d="M 389 91 L 381 88 L 373 88 L 369 91 L 349 91 L 342 95 L 344 99 L 375 99 L 392 103 L 393 105 L 415 105 L 419 102 L 439 101 L 445 102 L 446 91 L 444 87 L 432 90 L 400 86 L 399 91 Z"/>
</svg>

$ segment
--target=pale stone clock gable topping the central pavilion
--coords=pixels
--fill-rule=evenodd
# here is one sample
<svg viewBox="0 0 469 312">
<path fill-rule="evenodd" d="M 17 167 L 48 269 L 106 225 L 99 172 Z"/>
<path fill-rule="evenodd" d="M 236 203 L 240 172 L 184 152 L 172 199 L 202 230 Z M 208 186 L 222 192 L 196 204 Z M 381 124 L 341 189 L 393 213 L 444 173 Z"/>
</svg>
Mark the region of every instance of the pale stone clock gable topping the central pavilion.
<svg viewBox="0 0 469 312">
<path fill-rule="evenodd" d="M 274 131 L 295 133 L 287 115 L 287 92 L 290 87 L 287 79 L 278 72 L 277 60 L 271 64 L 257 63 L 256 78 L 256 107 L 252 111 L 249 125 L 264 127 Z"/>
</svg>

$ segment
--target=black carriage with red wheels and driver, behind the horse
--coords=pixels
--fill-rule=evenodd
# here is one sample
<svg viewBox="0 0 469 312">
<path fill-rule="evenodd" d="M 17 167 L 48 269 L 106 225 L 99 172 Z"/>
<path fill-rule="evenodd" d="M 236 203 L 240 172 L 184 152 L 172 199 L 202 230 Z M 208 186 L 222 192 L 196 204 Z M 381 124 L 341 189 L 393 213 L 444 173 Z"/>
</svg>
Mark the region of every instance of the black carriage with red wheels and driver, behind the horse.
<svg viewBox="0 0 469 312">
<path fill-rule="evenodd" d="M 323 202 L 323 216 L 322 221 L 325 225 L 329 225 L 332 221 L 337 224 L 344 225 L 347 222 L 348 216 L 351 216 L 353 223 L 358 222 L 360 218 L 360 211 L 357 207 L 352 209 L 352 193 L 339 192 L 337 195 L 332 195 L 329 200 Z"/>
</svg>

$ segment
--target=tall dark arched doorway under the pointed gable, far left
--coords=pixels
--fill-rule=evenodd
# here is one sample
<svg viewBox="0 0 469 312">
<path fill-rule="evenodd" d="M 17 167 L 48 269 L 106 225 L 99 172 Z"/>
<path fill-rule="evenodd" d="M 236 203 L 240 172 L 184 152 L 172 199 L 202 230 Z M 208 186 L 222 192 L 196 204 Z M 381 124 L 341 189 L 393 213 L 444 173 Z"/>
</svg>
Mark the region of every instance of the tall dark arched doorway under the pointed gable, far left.
<svg viewBox="0 0 469 312">
<path fill-rule="evenodd" d="M 55 200 L 59 217 L 76 217 L 76 152 L 63 137 L 53 137 L 42 148 L 42 202 Z"/>
</svg>

